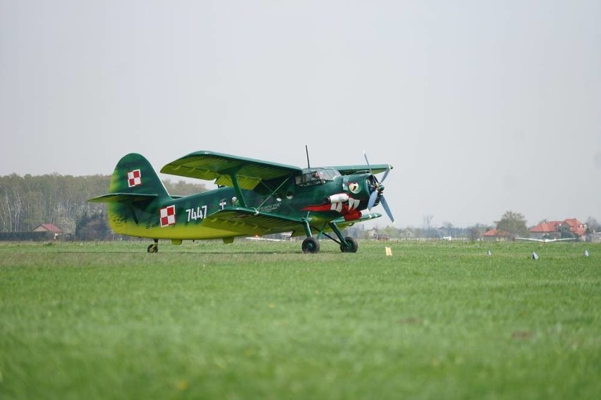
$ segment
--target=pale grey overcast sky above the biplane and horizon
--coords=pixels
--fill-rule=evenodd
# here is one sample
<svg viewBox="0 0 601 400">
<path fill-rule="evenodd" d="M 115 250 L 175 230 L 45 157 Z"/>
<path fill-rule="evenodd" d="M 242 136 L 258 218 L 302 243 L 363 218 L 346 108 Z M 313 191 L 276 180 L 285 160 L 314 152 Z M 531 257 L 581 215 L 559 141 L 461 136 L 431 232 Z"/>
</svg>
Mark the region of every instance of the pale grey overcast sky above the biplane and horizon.
<svg viewBox="0 0 601 400">
<path fill-rule="evenodd" d="M 0 0 L 0 134 L 0 175 L 307 144 L 394 165 L 398 227 L 601 220 L 601 1 Z"/>
</svg>

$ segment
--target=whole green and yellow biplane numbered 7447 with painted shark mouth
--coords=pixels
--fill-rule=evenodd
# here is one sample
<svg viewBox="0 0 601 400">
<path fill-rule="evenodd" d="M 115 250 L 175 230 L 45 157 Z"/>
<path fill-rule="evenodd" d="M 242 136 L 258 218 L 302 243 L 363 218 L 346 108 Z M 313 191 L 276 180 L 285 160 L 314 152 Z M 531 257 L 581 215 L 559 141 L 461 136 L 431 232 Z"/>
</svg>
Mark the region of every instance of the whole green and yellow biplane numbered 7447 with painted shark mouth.
<svg viewBox="0 0 601 400">
<path fill-rule="evenodd" d="M 392 165 L 298 168 L 196 151 L 165 165 L 161 173 L 214 180 L 217 189 L 190 196 L 170 196 L 146 158 L 127 154 L 117 163 L 109 194 L 89 201 L 109 204 L 109 225 L 121 235 L 154 239 L 149 253 L 159 250 L 159 239 L 223 239 L 292 232 L 305 235 L 304 253 L 317 253 L 324 235 L 343 252 L 358 249 L 356 239 L 344 237 L 345 227 L 382 216 L 363 213 L 382 204 L 384 185 Z M 382 181 L 376 174 L 384 173 Z M 333 232 L 334 235 L 330 235 Z"/>
</svg>

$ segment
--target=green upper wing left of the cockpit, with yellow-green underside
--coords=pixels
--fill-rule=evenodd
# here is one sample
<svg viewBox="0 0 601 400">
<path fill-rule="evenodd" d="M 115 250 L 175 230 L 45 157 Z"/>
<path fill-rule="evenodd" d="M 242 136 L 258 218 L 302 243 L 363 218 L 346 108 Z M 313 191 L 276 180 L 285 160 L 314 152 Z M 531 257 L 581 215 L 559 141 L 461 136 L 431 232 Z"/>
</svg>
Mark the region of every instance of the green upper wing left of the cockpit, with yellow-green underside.
<svg viewBox="0 0 601 400">
<path fill-rule="evenodd" d="M 212 151 L 190 153 L 188 156 L 171 161 L 161 169 L 165 174 L 215 180 L 217 185 L 229 187 L 233 187 L 231 175 L 236 175 L 241 189 L 248 190 L 255 189 L 262 180 L 286 177 L 301 171 L 301 168 L 293 165 L 270 163 Z"/>
</svg>

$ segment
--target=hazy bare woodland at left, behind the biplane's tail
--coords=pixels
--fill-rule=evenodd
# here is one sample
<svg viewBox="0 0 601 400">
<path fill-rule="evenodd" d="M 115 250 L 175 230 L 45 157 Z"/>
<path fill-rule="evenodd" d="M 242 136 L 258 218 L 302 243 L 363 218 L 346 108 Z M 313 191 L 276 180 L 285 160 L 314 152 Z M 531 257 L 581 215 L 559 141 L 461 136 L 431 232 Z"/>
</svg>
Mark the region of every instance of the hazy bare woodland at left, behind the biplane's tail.
<svg viewBox="0 0 601 400">
<path fill-rule="evenodd" d="M 51 223 L 75 234 L 83 225 L 104 218 L 107 205 L 88 199 L 108 192 L 110 175 L 0 176 L 0 232 L 30 232 Z M 205 185 L 164 180 L 167 192 L 185 196 L 204 192 Z"/>
</svg>

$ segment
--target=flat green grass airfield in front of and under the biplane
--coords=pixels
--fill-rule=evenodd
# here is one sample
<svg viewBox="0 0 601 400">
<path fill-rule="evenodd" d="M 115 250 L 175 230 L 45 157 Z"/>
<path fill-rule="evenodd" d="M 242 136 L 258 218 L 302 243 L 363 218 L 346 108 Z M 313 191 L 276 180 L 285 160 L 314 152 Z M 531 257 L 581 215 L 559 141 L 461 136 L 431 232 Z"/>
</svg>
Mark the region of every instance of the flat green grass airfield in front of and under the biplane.
<svg viewBox="0 0 601 400">
<path fill-rule="evenodd" d="M 0 399 L 601 398 L 600 244 L 147 244 L 0 244 Z"/>
</svg>

